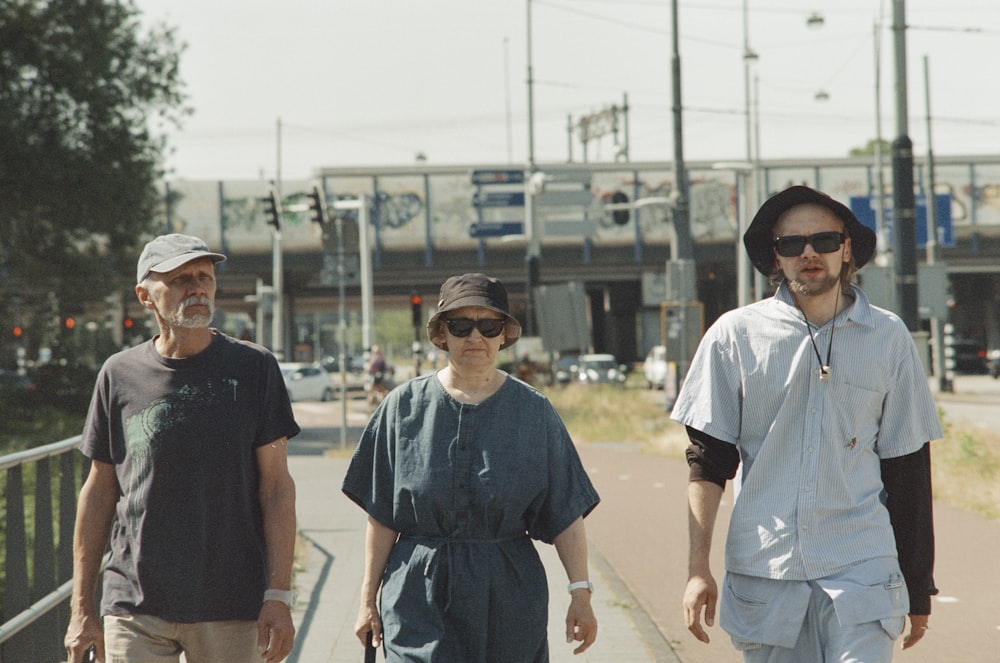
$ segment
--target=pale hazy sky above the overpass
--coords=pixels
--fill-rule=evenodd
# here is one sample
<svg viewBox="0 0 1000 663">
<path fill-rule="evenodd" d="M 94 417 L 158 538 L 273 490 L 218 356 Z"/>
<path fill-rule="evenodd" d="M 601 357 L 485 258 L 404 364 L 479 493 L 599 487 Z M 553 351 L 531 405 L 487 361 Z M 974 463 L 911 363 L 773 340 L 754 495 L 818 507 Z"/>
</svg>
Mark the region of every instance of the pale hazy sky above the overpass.
<svg viewBox="0 0 1000 663">
<path fill-rule="evenodd" d="M 181 79 L 194 112 L 170 132 L 170 179 L 308 179 L 418 158 L 582 161 L 569 127 L 626 97 L 629 158 L 673 159 L 669 0 L 134 2 L 145 23 L 174 27 L 186 44 Z M 875 138 L 876 99 L 892 140 L 893 4 L 681 0 L 685 159 L 844 157 Z M 1000 3 L 905 5 L 914 151 L 927 153 L 929 107 L 935 156 L 1000 154 Z M 747 47 L 757 55 L 749 66 Z M 623 127 L 617 147 L 610 134 L 595 138 L 587 158 L 613 161 L 624 143 Z"/>
</svg>

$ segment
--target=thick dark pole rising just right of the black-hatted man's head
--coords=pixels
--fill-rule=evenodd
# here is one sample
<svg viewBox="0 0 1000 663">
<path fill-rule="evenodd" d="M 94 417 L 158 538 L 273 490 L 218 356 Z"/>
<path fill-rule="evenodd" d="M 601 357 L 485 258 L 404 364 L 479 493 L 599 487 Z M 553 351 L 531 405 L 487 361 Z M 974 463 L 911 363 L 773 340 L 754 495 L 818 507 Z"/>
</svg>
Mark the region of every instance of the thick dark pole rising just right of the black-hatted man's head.
<svg viewBox="0 0 1000 663">
<path fill-rule="evenodd" d="M 906 102 L 906 2 L 893 0 L 896 61 L 896 139 L 892 143 L 893 234 L 896 249 L 896 298 L 899 317 L 917 331 L 916 203 L 913 195 L 913 142 L 909 137 Z"/>
</svg>

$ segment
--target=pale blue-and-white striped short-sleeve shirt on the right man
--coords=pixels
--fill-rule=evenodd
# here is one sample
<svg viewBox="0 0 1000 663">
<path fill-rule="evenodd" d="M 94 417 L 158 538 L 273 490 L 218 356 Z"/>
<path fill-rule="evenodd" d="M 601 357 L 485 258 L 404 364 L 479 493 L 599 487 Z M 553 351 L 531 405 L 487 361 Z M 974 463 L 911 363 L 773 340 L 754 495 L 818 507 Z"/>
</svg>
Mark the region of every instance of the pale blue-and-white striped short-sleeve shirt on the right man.
<svg viewBox="0 0 1000 663">
<path fill-rule="evenodd" d="M 906 326 L 852 288 L 854 303 L 814 330 L 824 358 L 834 334 L 826 382 L 785 283 L 698 347 L 672 418 L 740 450 L 729 571 L 813 580 L 896 557 L 879 459 L 943 433 Z"/>
</svg>

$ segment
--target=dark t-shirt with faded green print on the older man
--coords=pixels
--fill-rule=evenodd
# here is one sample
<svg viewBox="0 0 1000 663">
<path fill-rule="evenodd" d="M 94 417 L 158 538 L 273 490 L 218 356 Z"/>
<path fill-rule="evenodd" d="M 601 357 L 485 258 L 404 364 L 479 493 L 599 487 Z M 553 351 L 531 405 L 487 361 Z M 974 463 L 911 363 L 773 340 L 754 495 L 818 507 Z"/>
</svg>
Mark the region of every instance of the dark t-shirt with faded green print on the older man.
<svg viewBox="0 0 1000 663">
<path fill-rule="evenodd" d="M 260 346 L 216 332 L 194 357 L 165 358 L 152 341 L 110 357 L 80 443 L 115 465 L 122 491 L 102 613 L 256 619 L 267 560 L 255 452 L 298 432 Z"/>
</svg>

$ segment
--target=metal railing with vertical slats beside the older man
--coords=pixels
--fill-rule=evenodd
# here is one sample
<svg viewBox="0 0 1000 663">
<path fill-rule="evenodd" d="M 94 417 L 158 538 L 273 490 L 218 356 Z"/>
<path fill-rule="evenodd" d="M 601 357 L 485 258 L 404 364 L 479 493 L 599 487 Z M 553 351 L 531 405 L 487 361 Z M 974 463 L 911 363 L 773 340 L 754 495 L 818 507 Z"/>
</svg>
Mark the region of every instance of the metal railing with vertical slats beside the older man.
<svg viewBox="0 0 1000 663">
<path fill-rule="evenodd" d="M 69 621 L 68 599 L 73 585 L 76 499 L 89 468 L 86 458 L 72 453 L 79 442 L 77 435 L 0 456 L 0 470 L 6 475 L 3 532 L 6 583 L 0 663 L 50 663 L 65 659 L 63 635 Z M 55 482 L 51 462 L 54 458 L 58 462 Z M 24 476 L 24 468 L 29 465 L 34 465 L 33 491 L 26 486 Z M 30 537 L 29 513 L 33 514 L 34 525 Z"/>
</svg>

